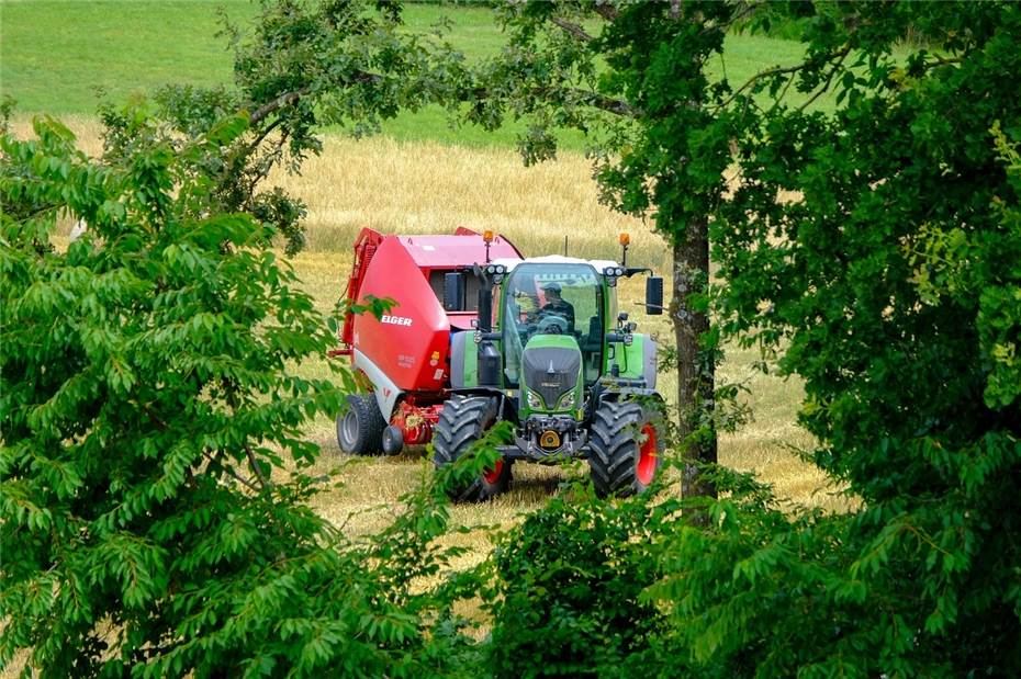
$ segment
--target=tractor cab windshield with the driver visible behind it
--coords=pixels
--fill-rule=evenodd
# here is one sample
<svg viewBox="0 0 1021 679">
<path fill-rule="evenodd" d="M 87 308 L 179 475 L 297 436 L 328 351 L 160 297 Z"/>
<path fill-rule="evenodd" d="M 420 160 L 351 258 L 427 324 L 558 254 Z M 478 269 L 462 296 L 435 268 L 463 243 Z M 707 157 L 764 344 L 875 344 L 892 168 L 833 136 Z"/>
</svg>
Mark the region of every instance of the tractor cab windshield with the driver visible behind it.
<svg viewBox="0 0 1021 679">
<path fill-rule="evenodd" d="M 585 382 L 601 372 L 603 350 L 603 288 L 588 264 L 525 263 L 503 285 L 504 377 L 517 386 L 521 352 L 535 335 L 570 335 L 582 350 Z"/>
</svg>

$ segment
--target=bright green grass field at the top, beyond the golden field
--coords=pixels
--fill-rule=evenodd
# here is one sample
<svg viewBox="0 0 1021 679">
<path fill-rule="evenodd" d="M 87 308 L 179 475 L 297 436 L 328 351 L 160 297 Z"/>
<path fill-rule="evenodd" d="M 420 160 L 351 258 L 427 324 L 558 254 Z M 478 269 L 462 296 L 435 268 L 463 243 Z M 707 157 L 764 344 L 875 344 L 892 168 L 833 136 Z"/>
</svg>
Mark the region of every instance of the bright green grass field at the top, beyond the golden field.
<svg viewBox="0 0 1021 679">
<path fill-rule="evenodd" d="M 245 25 L 257 11 L 249 0 L 2 0 L 0 92 L 14 98 L 23 113 L 89 115 L 100 92 L 120 102 L 171 82 L 228 86 L 232 54 L 227 38 L 217 35 L 221 13 Z M 498 52 L 503 37 L 489 9 L 411 4 L 405 10 L 409 30 L 426 29 L 444 15 L 451 20 L 451 42 L 469 59 Z M 726 64 L 717 59 L 710 68 L 739 86 L 762 66 L 790 64 L 800 52 L 794 42 L 731 36 Z M 819 105 L 827 106 L 824 98 Z M 451 129 L 442 110 L 428 107 L 399 115 L 383 132 L 397 140 L 506 146 L 520 128 Z M 580 134 L 564 134 L 562 140 L 566 149 L 584 148 Z"/>
</svg>

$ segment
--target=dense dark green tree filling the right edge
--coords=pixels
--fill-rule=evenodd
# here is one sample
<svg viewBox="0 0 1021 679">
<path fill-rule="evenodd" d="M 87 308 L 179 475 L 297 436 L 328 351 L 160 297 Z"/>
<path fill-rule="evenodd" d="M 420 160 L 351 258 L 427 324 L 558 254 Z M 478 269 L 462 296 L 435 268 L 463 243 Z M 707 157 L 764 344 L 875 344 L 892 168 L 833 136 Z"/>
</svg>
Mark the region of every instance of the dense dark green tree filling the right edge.
<svg viewBox="0 0 1021 679">
<path fill-rule="evenodd" d="M 898 63 L 912 24 L 940 43 Z M 932 671 L 1017 671 L 1021 13 L 865 3 L 806 39 L 853 63 L 819 71 L 834 115 L 750 116 L 713 231 L 728 329 L 805 380 L 814 460 L 864 502 L 875 629 Z"/>
</svg>

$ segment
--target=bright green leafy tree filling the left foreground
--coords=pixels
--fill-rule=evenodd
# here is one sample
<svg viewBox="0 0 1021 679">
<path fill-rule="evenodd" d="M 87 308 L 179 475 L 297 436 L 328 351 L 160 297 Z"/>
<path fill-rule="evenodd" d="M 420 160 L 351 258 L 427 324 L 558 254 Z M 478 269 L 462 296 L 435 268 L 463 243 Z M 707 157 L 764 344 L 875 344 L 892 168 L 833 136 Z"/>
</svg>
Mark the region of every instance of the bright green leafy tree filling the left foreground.
<svg viewBox="0 0 1021 679">
<path fill-rule="evenodd" d="M 441 490 L 362 543 L 305 502 L 322 484 L 302 426 L 344 389 L 296 374 L 333 332 L 267 227 L 216 214 L 195 171 L 245 127 L 135 135 L 106 162 L 54 121 L 2 138 L 3 664 L 418 677 L 471 657 L 452 593 L 415 585 L 451 554 Z M 57 250 L 65 214 L 89 229 Z"/>
</svg>

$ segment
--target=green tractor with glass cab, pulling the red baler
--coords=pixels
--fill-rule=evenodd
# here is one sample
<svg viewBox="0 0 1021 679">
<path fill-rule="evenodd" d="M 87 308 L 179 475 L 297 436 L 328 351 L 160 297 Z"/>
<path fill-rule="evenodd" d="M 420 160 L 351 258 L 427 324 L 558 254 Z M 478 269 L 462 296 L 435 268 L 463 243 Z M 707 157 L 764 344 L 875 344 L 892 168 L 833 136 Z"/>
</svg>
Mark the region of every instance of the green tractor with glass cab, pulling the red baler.
<svg viewBox="0 0 1021 679">
<path fill-rule="evenodd" d="M 617 281 L 650 269 L 568 257 L 476 264 L 479 320 L 453 336 L 451 396 L 434 426 L 434 463 L 451 464 L 500 421 L 514 441 L 493 468 L 455 500 L 480 501 L 507 489 L 514 462 L 588 461 L 599 496 L 643 491 L 665 445 L 655 392 L 657 343 L 618 313 Z M 447 274 L 445 296 L 458 304 L 465 282 Z M 663 309 L 663 280 L 646 281 L 646 313 Z M 495 322 L 494 322 L 495 310 Z"/>
</svg>

